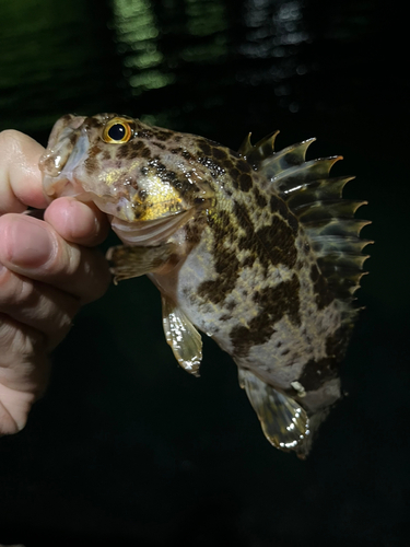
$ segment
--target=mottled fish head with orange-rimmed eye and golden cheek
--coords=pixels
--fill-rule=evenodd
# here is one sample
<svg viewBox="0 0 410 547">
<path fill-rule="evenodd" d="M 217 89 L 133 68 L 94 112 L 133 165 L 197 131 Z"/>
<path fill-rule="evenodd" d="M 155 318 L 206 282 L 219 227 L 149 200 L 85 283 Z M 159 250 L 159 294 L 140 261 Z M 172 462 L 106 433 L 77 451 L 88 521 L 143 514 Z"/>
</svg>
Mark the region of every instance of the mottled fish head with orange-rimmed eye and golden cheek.
<svg viewBox="0 0 410 547">
<path fill-rule="evenodd" d="M 164 241 L 212 197 L 207 170 L 175 153 L 175 135 L 117 114 L 66 115 L 39 162 L 44 189 L 94 201 L 125 243 Z"/>
</svg>

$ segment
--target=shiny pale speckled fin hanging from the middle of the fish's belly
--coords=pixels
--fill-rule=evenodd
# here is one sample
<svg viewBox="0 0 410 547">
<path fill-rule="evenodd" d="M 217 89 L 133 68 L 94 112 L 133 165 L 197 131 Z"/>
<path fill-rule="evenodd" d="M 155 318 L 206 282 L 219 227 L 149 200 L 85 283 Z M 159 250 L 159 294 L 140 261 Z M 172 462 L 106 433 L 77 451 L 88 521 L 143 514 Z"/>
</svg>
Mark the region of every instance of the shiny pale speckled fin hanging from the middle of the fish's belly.
<svg viewBox="0 0 410 547">
<path fill-rule="evenodd" d="M 199 376 L 202 359 L 201 335 L 185 313 L 167 296 L 162 295 L 162 317 L 166 341 L 180 366 Z"/>
</svg>

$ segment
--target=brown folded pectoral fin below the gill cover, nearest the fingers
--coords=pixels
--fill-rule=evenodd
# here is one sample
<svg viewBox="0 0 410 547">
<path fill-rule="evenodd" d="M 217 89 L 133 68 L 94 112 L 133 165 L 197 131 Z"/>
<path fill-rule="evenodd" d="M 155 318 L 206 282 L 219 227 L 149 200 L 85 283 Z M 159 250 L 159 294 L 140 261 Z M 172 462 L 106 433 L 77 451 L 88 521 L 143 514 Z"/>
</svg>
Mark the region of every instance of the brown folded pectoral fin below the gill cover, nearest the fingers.
<svg viewBox="0 0 410 547">
<path fill-rule="evenodd" d="M 144 276 L 157 270 L 173 254 L 174 244 L 166 243 L 157 247 L 129 247 L 118 245 L 110 247 L 106 254 L 112 264 L 110 271 L 114 274 L 114 282 Z"/>
</svg>

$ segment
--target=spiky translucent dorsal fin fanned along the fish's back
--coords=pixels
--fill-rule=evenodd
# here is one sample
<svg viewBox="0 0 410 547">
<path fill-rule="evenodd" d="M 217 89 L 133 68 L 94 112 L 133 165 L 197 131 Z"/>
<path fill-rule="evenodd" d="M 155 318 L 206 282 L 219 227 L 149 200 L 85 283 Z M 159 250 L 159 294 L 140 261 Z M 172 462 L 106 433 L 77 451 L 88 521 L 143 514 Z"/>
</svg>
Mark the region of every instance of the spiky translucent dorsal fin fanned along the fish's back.
<svg viewBox="0 0 410 547">
<path fill-rule="evenodd" d="M 278 131 L 253 147 L 249 133 L 241 147 L 242 153 L 270 181 L 268 191 L 282 198 L 302 223 L 329 288 L 337 298 L 350 303 L 368 258 L 362 251 L 373 243 L 360 238 L 362 228 L 370 222 L 354 218 L 367 202 L 342 199 L 344 185 L 354 177 L 329 177 L 331 167 L 342 156 L 306 161 L 306 151 L 315 139 L 274 152 L 277 135 Z"/>
</svg>

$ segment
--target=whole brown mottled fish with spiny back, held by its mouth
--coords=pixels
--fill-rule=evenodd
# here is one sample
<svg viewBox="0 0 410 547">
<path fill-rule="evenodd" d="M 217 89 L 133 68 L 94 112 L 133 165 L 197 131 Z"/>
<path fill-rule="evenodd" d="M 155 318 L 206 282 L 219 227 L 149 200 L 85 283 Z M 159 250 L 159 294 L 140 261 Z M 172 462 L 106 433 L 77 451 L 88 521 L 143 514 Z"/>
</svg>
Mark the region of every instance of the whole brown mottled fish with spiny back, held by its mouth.
<svg viewBox="0 0 410 547">
<path fill-rule="evenodd" d="M 341 156 L 306 160 L 314 138 L 279 131 L 237 152 L 117 114 L 66 115 L 40 159 L 51 198 L 104 211 L 122 245 L 115 282 L 147 275 L 165 338 L 198 376 L 201 334 L 226 351 L 268 441 L 304 458 L 342 397 L 340 368 L 360 313 L 366 201 L 344 199 Z"/>
</svg>

